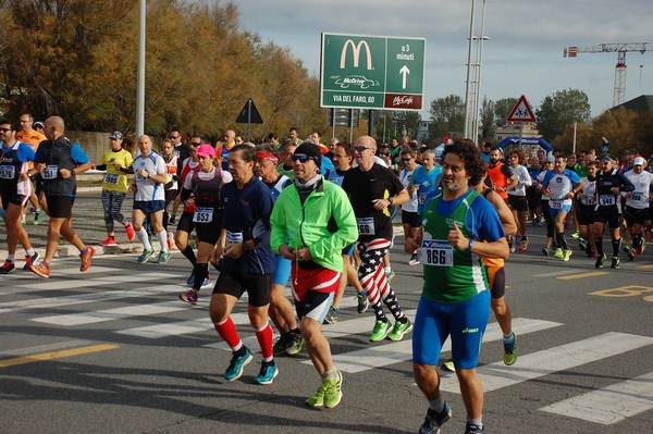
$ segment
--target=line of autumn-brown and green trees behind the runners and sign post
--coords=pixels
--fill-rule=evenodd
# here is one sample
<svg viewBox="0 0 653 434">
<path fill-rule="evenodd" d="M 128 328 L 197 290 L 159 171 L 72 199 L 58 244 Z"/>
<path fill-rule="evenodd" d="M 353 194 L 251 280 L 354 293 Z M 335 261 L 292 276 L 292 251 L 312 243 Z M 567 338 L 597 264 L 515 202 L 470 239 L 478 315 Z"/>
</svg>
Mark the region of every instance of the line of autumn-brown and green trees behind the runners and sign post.
<svg viewBox="0 0 653 434">
<path fill-rule="evenodd" d="M 138 0 L 0 0 L 2 113 L 17 119 L 30 112 L 41 120 L 59 114 L 69 128 L 133 133 L 138 14 Z M 146 35 L 146 133 L 161 136 L 173 125 L 212 138 L 227 128 L 243 132 L 235 119 L 251 98 L 264 121 L 252 125 L 254 137 L 289 126 L 331 136 L 328 110 L 319 107 L 319 77 L 288 48 L 243 29 L 236 2 L 148 0 Z M 479 139 L 493 141 L 516 101 L 483 100 Z M 355 136 L 367 133 L 362 114 Z M 546 97 L 535 114 L 540 133 L 562 149 L 570 149 L 569 128 L 577 121 L 580 147 L 608 137 L 617 151 L 638 146 L 653 152 L 653 116 L 608 111 L 592 120 L 579 90 Z M 431 142 L 461 132 L 463 99 L 431 101 L 430 119 Z M 416 112 L 383 112 L 373 129 L 389 141 L 404 128 L 415 137 L 420 122 Z"/>
</svg>

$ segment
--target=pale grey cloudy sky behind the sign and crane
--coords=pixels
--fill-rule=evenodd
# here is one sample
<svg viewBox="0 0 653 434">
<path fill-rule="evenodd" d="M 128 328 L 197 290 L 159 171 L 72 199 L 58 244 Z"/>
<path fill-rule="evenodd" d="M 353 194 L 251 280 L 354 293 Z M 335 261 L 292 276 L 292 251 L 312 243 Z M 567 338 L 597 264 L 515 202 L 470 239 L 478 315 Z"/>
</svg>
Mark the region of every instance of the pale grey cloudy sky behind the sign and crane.
<svg viewBox="0 0 653 434">
<path fill-rule="evenodd" d="M 483 1 L 475 1 L 473 34 L 480 36 Z M 422 119 L 434 99 L 465 99 L 470 0 L 234 2 L 242 29 L 288 48 L 313 76 L 320 75 L 321 33 L 426 38 Z M 481 98 L 525 95 L 534 111 L 546 96 L 579 89 L 596 116 L 613 104 L 617 53 L 569 59 L 563 49 L 623 42 L 649 42 L 645 53 L 626 54 L 625 101 L 653 95 L 652 23 L 652 0 L 486 0 Z"/>
</svg>

